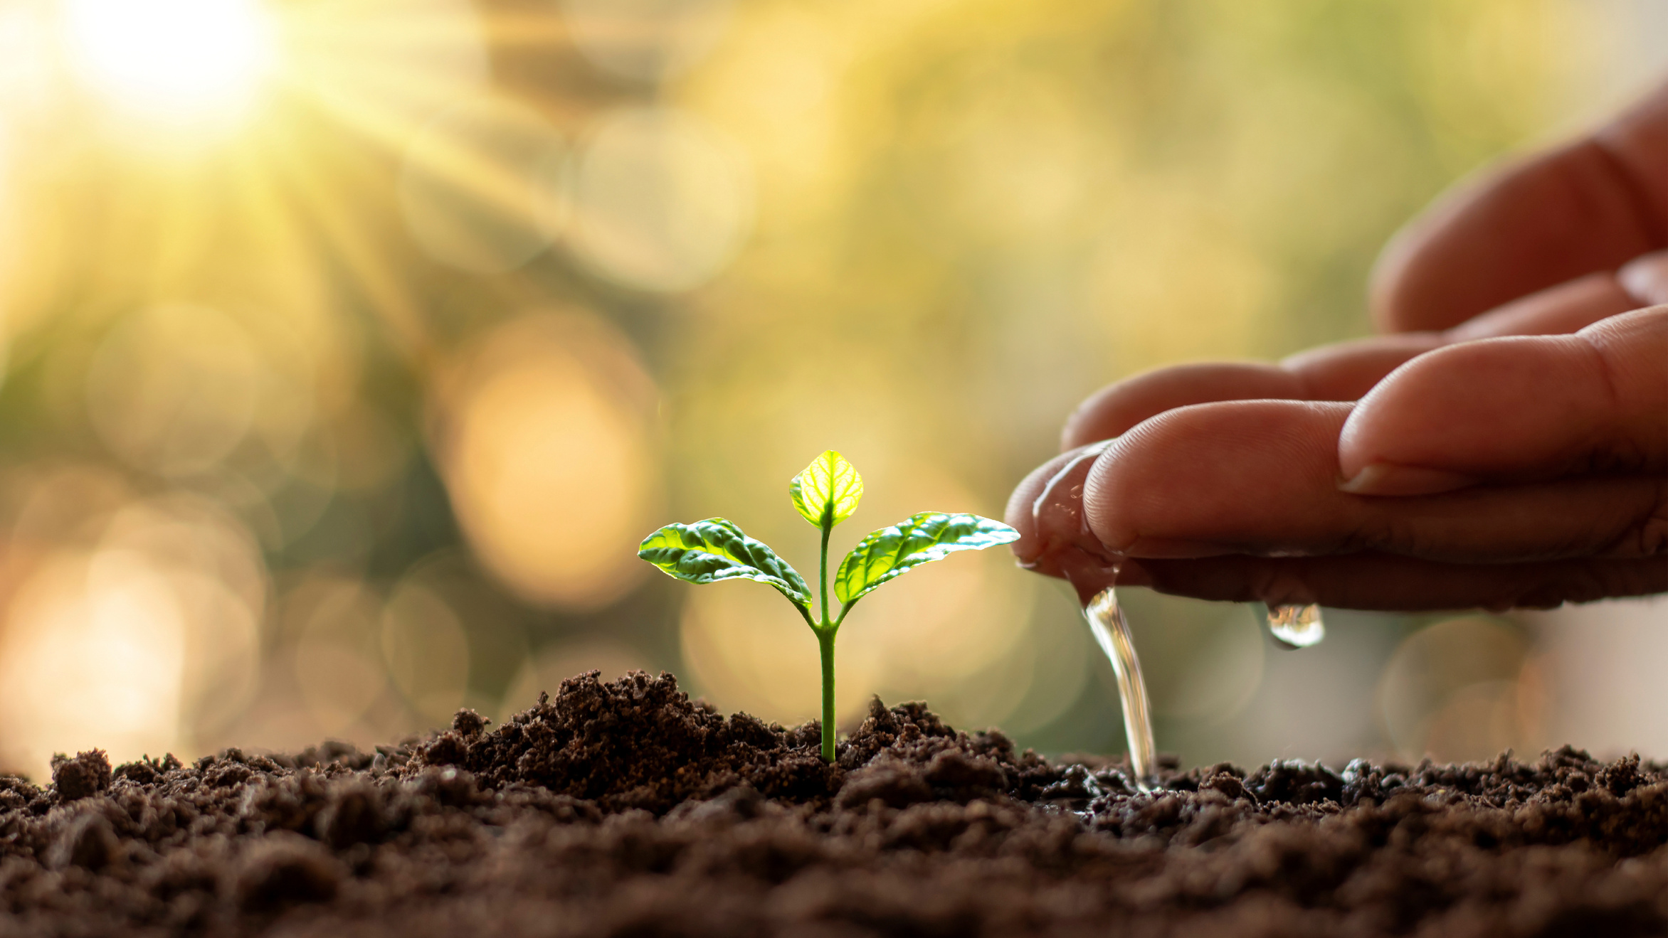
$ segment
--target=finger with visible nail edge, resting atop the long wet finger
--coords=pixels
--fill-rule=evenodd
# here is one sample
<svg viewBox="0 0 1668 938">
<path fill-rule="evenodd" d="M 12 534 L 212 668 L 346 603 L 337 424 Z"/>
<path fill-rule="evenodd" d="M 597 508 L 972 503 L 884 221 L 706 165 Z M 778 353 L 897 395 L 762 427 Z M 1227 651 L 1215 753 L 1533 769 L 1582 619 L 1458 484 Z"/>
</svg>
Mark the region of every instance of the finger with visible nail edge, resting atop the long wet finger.
<svg viewBox="0 0 1668 938">
<path fill-rule="evenodd" d="M 1338 465 L 1356 495 L 1668 473 L 1668 307 L 1409 362 L 1349 415 Z"/>
</svg>

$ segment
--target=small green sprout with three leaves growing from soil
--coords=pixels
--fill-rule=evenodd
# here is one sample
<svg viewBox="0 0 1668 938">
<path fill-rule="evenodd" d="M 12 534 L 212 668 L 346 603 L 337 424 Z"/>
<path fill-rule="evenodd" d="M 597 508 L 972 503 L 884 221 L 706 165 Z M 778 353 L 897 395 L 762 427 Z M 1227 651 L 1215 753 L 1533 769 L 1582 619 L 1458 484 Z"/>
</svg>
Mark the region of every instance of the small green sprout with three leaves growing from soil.
<svg viewBox="0 0 1668 938">
<path fill-rule="evenodd" d="M 769 583 L 794 603 L 822 650 L 822 760 L 834 761 L 834 635 L 857 600 L 922 563 L 942 560 L 957 550 L 984 550 L 1009 543 L 1019 538 L 1019 531 L 977 515 L 942 511 L 922 511 L 889 528 L 871 531 L 857 541 L 834 573 L 834 596 L 841 601 L 836 616 L 829 608 L 829 533 L 857 510 L 857 501 L 862 500 L 862 476 L 846 457 L 829 450 L 794 476 L 787 493 L 794 498 L 799 515 L 822 531 L 822 563 L 817 576 L 821 601 L 816 606 L 811 601 L 811 588 L 787 561 L 724 518 L 667 525 L 642 540 L 637 556 L 691 583 L 719 580 Z"/>
</svg>

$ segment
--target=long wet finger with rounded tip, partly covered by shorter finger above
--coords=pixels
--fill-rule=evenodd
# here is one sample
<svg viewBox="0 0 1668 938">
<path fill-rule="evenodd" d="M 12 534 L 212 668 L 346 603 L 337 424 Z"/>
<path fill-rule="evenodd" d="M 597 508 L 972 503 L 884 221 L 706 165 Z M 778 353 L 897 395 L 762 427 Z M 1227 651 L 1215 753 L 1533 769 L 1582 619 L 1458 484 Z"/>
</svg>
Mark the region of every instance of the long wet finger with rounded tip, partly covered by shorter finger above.
<svg viewBox="0 0 1668 938">
<path fill-rule="evenodd" d="M 1338 488 L 1354 405 L 1224 402 L 1166 412 L 1114 440 L 1084 483 L 1111 555 L 1383 551 L 1448 563 L 1640 556 L 1665 548 L 1668 481 L 1588 478 L 1374 498 Z"/>
</svg>

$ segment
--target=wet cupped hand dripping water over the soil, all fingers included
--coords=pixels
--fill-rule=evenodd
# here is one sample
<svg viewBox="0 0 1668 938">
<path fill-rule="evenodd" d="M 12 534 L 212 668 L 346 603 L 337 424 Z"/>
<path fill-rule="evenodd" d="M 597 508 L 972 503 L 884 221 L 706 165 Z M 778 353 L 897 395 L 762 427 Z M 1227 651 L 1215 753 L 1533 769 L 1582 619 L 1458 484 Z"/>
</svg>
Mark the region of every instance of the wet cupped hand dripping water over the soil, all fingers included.
<svg viewBox="0 0 1668 938">
<path fill-rule="evenodd" d="M 1668 87 L 1386 250 L 1391 335 L 1079 407 L 1024 563 L 1214 600 L 1553 606 L 1668 590 Z"/>
</svg>

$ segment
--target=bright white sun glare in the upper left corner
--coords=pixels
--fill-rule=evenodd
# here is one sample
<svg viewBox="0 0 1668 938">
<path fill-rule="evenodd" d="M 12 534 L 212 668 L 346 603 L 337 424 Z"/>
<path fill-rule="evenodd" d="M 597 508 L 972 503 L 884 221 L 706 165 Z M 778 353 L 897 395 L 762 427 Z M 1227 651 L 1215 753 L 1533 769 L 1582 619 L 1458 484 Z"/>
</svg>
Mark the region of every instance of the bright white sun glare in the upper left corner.
<svg viewBox="0 0 1668 938">
<path fill-rule="evenodd" d="M 235 115 L 277 60 L 259 0 L 67 0 L 63 28 L 88 85 L 168 123 Z"/>
</svg>

